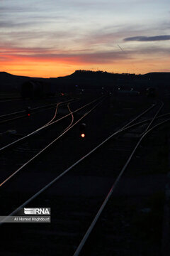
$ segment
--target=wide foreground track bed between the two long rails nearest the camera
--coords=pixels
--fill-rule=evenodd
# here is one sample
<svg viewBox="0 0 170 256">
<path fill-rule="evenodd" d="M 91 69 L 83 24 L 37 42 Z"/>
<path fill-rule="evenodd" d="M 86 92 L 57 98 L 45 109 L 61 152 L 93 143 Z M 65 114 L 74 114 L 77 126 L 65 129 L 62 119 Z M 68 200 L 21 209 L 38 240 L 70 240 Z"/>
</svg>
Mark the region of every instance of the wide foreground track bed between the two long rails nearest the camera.
<svg viewBox="0 0 170 256">
<path fill-rule="evenodd" d="M 55 213 L 52 215 L 54 220 L 57 220 L 57 223 L 59 223 L 59 220 L 64 222 L 64 219 L 67 220 L 67 223 L 69 223 L 69 230 L 67 230 L 67 233 L 71 231 L 71 233 L 76 235 L 76 238 L 74 239 L 74 235 L 72 237 L 72 244 L 74 246 L 71 246 L 68 242 L 68 240 L 66 239 L 65 236 L 62 235 L 62 230 L 60 231 L 59 225 L 58 224 L 54 224 L 52 223 L 52 225 L 55 225 L 55 230 L 56 230 L 56 235 L 58 238 L 60 238 L 60 245 L 58 245 L 59 251 L 60 250 L 64 250 L 64 245 L 65 245 L 65 251 L 63 251 L 64 255 L 70 255 L 71 253 L 74 253 L 74 248 L 77 247 L 78 245 L 78 241 L 80 240 L 80 238 L 82 237 L 82 235 L 84 234 L 84 231 L 86 230 L 86 228 L 88 227 L 88 225 L 91 223 L 91 220 L 94 218 L 93 216 L 96 215 L 96 209 L 98 208 L 98 206 L 100 206 L 101 201 L 103 201 L 104 196 L 103 193 L 99 193 L 99 195 L 97 196 L 96 200 L 94 201 L 94 199 L 92 198 L 93 195 L 93 185 L 95 185 L 96 180 L 93 181 L 93 178 L 91 179 L 91 181 L 87 180 L 87 176 L 90 176 L 91 174 L 93 175 L 98 175 L 98 176 L 105 176 L 105 171 L 102 170 L 102 167 L 100 166 L 102 164 L 102 158 L 105 160 L 105 167 L 103 165 L 103 168 L 106 168 L 106 170 L 108 171 L 106 176 L 109 176 L 111 178 L 111 181 L 114 181 L 114 184 L 117 184 L 120 177 L 123 175 L 123 172 L 125 171 L 126 167 L 128 166 L 130 159 L 132 159 L 133 154 L 135 154 L 135 151 L 137 149 L 137 147 L 140 145 L 140 143 L 142 142 L 142 139 L 149 134 L 149 132 L 152 132 L 152 129 L 159 127 L 159 125 L 162 124 L 166 124 L 166 122 L 169 122 L 170 119 L 166 118 L 166 115 L 161 115 L 159 116 L 159 118 L 157 117 L 159 114 L 159 111 L 162 109 L 162 105 L 157 106 L 157 110 L 155 110 L 154 114 L 149 114 L 149 110 L 154 110 L 154 107 L 149 107 L 149 110 L 143 112 L 142 114 L 138 115 L 137 117 L 135 117 L 133 120 L 131 120 L 130 122 L 128 122 L 128 124 L 126 124 L 124 127 L 118 129 L 116 132 L 114 132 L 113 134 L 111 134 L 111 136 L 109 136 L 107 139 L 105 139 L 101 144 L 99 144 L 98 146 L 96 146 L 93 150 L 89 151 L 88 154 L 86 154 L 85 156 L 83 156 L 81 159 L 79 159 L 78 161 L 76 161 L 74 164 L 72 164 L 72 166 L 69 166 L 69 168 L 67 168 L 65 171 L 62 172 L 62 174 L 60 174 L 59 176 L 57 176 L 56 178 L 54 178 L 52 181 L 50 181 L 49 183 L 47 183 L 46 186 L 44 186 L 43 188 L 41 188 L 37 193 L 35 193 L 33 196 L 31 196 L 27 201 L 25 201 L 24 203 L 21 204 L 21 206 L 19 206 L 18 208 L 16 208 L 16 210 L 13 210 L 13 212 L 10 215 L 15 215 L 15 213 L 17 213 L 17 211 L 25 206 L 30 206 L 29 203 L 32 202 L 32 205 L 40 205 L 40 203 L 42 203 L 44 198 L 49 198 L 49 196 L 54 196 L 55 198 L 57 196 L 58 198 L 58 202 L 59 202 L 59 206 L 60 208 L 60 212 L 63 213 L 62 217 L 61 216 L 56 216 L 57 212 L 54 209 L 55 208 L 55 204 L 57 203 L 57 200 L 54 201 L 53 203 L 51 202 L 50 206 L 53 207 L 52 209 L 55 211 Z M 145 120 L 143 119 L 144 114 L 147 114 L 147 117 L 145 117 Z M 152 117 L 151 117 L 152 115 Z M 154 116 L 153 116 L 154 115 Z M 141 119 L 142 120 L 138 120 Z M 162 121 L 159 121 L 159 119 L 162 118 Z M 155 122 L 157 122 L 157 124 L 155 124 Z M 152 126 L 151 126 L 152 125 Z M 70 126 L 69 128 L 71 128 L 73 126 Z M 135 134 L 134 138 L 133 138 L 133 142 L 131 142 L 131 139 L 128 139 L 128 134 L 133 133 Z M 123 134 L 123 136 L 119 137 L 121 134 Z M 115 137 L 115 140 L 112 142 L 112 139 Z M 107 142 L 107 143 L 106 143 Z M 108 152 L 108 149 L 110 149 Z M 118 156 L 119 153 L 115 154 L 115 150 L 118 149 L 119 151 L 123 151 L 123 159 L 122 156 Z M 105 152 L 105 153 L 104 153 Z M 114 152 L 114 153 L 113 153 Z M 113 156 L 113 157 L 112 157 Z M 90 158 L 90 165 L 87 162 L 86 159 Z M 110 168 L 109 163 L 106 165 L 106 159 L 108 158 L 108 160 L 110 161 Z M 111 159 L 112 158 L 112 159 Z M 97 159 L 99 160 L 99 163 L 97 163 Z M 118 161 L 119 160 L 119 161 Z M 84 163 L 85 161 L 85 163 Z M 124 164 L 123 164 L 124 162 Z M 103 164 L 104 164 L 103 163 Z M 113 164 L 114 163 L 114 164 Z M 82 166 L 83 164 L 83 166 Z M 94 164 L 94 167 L 91 167 L 91 165 Z M 123 168 L 120 171 L 120 166 L 122 166 L 123 164 Z M 99 167 L 100 166 L 100 167 Z M 113 174 L 113 169 L 112 167 L 114 166 L 114 174 Z M 89 168 L 89 170 L 88 170 Z M 69 171 L 72 170 L 72 174 L 69 174 Z M 81 170 L 81 173 L 80 173 Z M 118 171 L 120 173 L 118 173 Z M 68 176 L 69 175 L 69 176 Z M 70 176 L 71 175 L 71 176 Z M 81 175 L 81 177 L 79 177 Z M 112 177 L 111 177 L 112 176 Z M 117 178 L 116 178 L 117 176 Z M 62 178 L 63 177 L 63 178 Z M 64 177 L 66 177 L 66 179 L 64 180 Z M 79 178 L 78 178 L 79 177 Z M 85 185 L 84 182 L 82 183 L 81 178 L 85 177 Z M 61 179 L 61 181 L 59 181 Z M 73 188 L 72 191 L 72 186 L 68 186 L 68 190 L 70 193 L 70 196 L 68 196 L 65 194 L 64 196 L 61 196 L 61 191 L 63 193 L 63 189 L 62 186 L 64 184 L 64 182 L 68 183 L 68 178 L 71 178 L 72 182 L 73 182 L 73 186 L 76 184 L 74 184 L 74 180 L 78 178 L 78 181 L 81 181 L 81 185 L 80 186 L 84 186 L 84 189 L 87 188 L 87 186 L 89 186 L 88 184 L 90 184 L 90 188 L 89 188 L 89 193 L 90 196 L 87 196 L 87 198 L 84 197 L 84 205 L 86 206 L 86 210 L 84 210 L 84 206 L 79 206 L 79 203 L 81 205 L 81 201 L 82 201 L 82 195 L 81 193 L 83 193 L 82 191 L 76 191 L 77 188 Z M 56 188 L 54 186 L 52 186 L 53 184 L 55 184 L 55 182 L 58 181 L 59 182 L 59 188 L 57 190 L 57 195 L 55 194 Z M 98 183 L 99 186 L 100 182 Z M 114 185 L 115 186 L 115 185 Z M 50 188 L 48 189 L 47 188 Z M 103 190 L 107 191 L 107 188 L 103 188 Z M 98 190 L 98 188 L 97 188 Z M 80 196 L 73 196 L 72 193 L 74 193 L 74 195 L 79 195 L 80 192 Z M 103 204 L 100 208 L 100 210 L 98 210 L 98 213 L 96 215 L 96 217 L 94 218 L 94 220 L 92 221 L 91 225 L 89 226 L 89 229 L 86 232 L 86 235 L 84 235 L 84 238 L 81 240 L 80 245 L 77 248 L 77 251 L 75 252 L 74 255 L 79 255 L 79 253 L 81 252 L 82 247 L 84 246 L 86 239 L 89 238 L 89 235 L 91 234 L 91 230 L 93 230 L 96 221 L 98 220 L 98 218 L 101 215 L 101 212 L 104 208 L 104 206 L 106 206 L 106 203 L 108 201 L 108 198 L 110 198 L 110 193 L 113 192 L 113 186 L 111 188 L 111 191 L 109 192 L 108 196 L 106 197 L 106 199 L 104 199 Z M 42 199 L 43 198 L 43 199 Z M 74 198 L 74 199 L 73 199 Z M 67 202 L 68 200 L 68 202 Z M 64 206 L 64 203 L 68 203 L 67 206 Z M 91 209 L 90 209 L 91 208 Z M 77 214 L 74 212 L 77 212 Z M 84 212 L 84 216 L 81 215 L 81 213 Z M 71 213 L 71 215 L 70 215 Z M 70 219 L 69 219 L 70 218 Z M 74 219 L 75 218 L 75 219 Z M 79 220 L 79 224 L 81 223 L 81 228 L 79 227 L 79 225 L 77 226 L 72 226 L 72 228 L 70 228 L 70 223 L 74 223 L 74 220 L 78 221 Z M 66 228 L 66 227 L 64 227 Z M 31 229 L 31 228 L 30 228 Z M 48 229 L 48 228 L 46 228 Z M 37 231 L 37 233 L 40 235 L 40 231 L 42 231 L 43 228 L 40 228 L 40 230 Z M 77 235 L 79 233 L 79 235 Z M 28 235 L 29 236 L 29 235 Z M 70 235 L 69 235 L 69 238 Z M 66 242 L 68 242 L 68 244 L 66 245 Z M 60 251 L 61 252 L 61 251 Z M 60 255 L 60 252 L 56 255 Z"/>
</svg>

